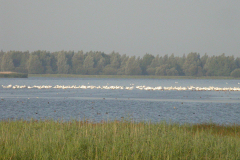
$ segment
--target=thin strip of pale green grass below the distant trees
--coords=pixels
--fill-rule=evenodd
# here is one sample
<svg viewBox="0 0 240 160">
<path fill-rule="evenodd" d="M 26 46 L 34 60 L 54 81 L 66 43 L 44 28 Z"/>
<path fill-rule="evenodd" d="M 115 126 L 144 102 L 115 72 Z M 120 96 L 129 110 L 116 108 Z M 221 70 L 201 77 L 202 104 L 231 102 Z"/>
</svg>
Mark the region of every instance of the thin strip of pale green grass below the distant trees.
<svg viewBox="0 0 240 160">
<path fill-rule="evenodd" d="M 155 75 L 78 75 L 78 74 L 29 74 L 29 77 L 56 77 L 56 78 L 132 78 L 132 79 L 240 79 L 223 76 L 155 76 Z"/>
</svg>

